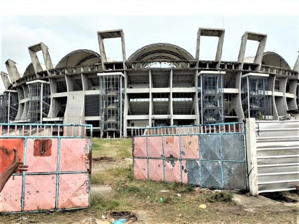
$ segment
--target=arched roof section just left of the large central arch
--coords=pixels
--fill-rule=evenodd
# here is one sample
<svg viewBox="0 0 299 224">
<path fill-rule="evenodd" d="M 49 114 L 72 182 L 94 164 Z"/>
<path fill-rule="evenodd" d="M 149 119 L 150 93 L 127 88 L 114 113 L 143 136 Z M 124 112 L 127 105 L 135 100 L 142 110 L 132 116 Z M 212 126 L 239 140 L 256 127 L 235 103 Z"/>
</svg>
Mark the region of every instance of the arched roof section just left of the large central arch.
<svg viewBox="0 0 299 224">
<path fill-rule="evenodd" d="M 88 64 L 97 64 L 101 62 L 101 56 L 92 50 L 75 50 L 65 55 L 55 66 L 55 68 L 64 68 L 70 66 L 80 66 Z"/>
</svg>

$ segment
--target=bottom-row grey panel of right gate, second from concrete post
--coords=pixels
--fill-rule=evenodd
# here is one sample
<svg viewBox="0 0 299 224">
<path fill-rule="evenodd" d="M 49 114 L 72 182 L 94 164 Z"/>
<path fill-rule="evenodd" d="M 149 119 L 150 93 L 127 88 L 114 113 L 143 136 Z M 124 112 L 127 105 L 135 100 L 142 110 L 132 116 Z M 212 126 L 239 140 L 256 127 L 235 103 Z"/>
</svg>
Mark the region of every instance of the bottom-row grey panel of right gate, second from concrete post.
<svg viewBox="0 0 299 224">
<path fill-rule="evenodd" d="M 201 173 L 202 186 L 222 188 L 220 161 L 202 161 Z"/>
</svg>

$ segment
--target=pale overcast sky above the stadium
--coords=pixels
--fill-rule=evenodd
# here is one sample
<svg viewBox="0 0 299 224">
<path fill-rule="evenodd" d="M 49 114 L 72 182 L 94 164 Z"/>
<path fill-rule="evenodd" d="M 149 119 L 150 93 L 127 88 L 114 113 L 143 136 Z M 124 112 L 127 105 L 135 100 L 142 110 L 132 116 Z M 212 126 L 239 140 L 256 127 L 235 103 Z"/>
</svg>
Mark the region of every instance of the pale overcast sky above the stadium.
<svg viewBox="0 0 299 224">
<path fill-rule="evenodd" d="M 162 13 L 156 12 L 152 15 L 147 12 L 145 16 L 130 14 L 117 16 L 114 13 L 102 16 L 72 15 L 71 8 L 67 9 L 68 15 L 64 16 L 59 13 L 58 15 L 44 16 L 20 16 L 17 13 L 4 15 L 0 17 L 0 71 L 7 73 L 4 63 L 7 59 L 11 59 L 16 62 L 19 73 L 23 74 L 31 63 L 28 46 L 39 42 L 48 46 L 53 64 L 57 64 L 66 54 L 78 49 L 89 49 L 99 53 L 97 31 L 113 29 L 123 29 L 124 31 L 127 58 L 139 48 L 158 42 L 178 45 L 195 57 L 196 36 L 199 27 L 225 29 L 223 61 L 237 60 L 242 35 L 245 31 L 252 31 L 267 34 L 265 51 L 274 51 L 280 54 L 291 67 L 294 66 L 299 51 L 299 19 L 297 15 L 240 16 L 234 15 L 234 9 L 232 10 L 231 6 L 230 4 L 227 8 L 228 11 L 223 13 L 224 15 L 204 16 L 162 15 Z M 55 10 L 55 8 L 57 6 L 49 10 Z M 112 9 L 107 8 L 107 10 Z M 200 8 L 198 10 L 200 11 Z M 211 14 L 214 13 L 211 11 Z M 201 39 L 200 59 L 214 60 L 217 47 L 216 39 L 214 37 Z M 256 42 L 248 41 L 245 56 L 254 56 L 257 46 Z M 121 60 L 120 39 L 105 39 L 105 49 L 108 57 Z M 43 63 L 41 52 L 38 53 L 38 57 Z M 3 83 L 0 80 L 0 93 L 3 90 Z"/>
</svg>

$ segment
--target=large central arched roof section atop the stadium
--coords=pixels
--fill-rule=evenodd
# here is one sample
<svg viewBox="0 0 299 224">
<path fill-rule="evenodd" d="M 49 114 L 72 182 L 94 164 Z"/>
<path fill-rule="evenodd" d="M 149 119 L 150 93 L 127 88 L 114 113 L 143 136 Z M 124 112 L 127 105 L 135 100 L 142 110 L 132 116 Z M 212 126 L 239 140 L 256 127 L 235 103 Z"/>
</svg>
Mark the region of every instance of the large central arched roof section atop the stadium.
<svg viewBox="0 0 299 224">
<path fill-rule="evenodd" d="M 189 61 L 194 57 L 185 49 L 169 43 L 154 43 L 135 51 L 128 61 Z"/>
</svg>

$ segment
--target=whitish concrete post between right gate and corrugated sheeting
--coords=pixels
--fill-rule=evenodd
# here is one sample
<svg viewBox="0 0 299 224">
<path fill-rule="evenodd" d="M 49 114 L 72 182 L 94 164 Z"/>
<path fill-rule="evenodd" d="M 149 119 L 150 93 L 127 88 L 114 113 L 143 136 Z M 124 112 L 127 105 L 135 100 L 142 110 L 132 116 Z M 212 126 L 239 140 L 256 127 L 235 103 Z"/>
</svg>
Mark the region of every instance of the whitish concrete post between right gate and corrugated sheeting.
<svg viewBox="0 0 299 224">
<path fill-rule="evenodd" d="M 255 118 L 246 118 L 245 121 L 245 138 L 248 167 L 249 191 L 253 196 L 259 195 L 258 187 L 258 162 L 256 146 Z"/>
</svg>

